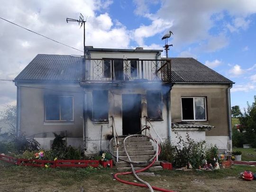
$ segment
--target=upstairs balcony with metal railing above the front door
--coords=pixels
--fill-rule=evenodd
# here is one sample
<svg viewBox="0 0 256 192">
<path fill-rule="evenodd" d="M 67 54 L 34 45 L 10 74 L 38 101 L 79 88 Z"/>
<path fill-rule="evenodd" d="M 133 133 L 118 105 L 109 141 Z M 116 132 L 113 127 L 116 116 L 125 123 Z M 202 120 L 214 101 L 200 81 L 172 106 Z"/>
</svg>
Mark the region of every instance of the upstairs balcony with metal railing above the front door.
<svg viewBox="0 0 256 192">
<path fill-rule="evenodd" d="M 171 59 L 85 59 L 84 82 L 171 82 Z"/>
</svg>

